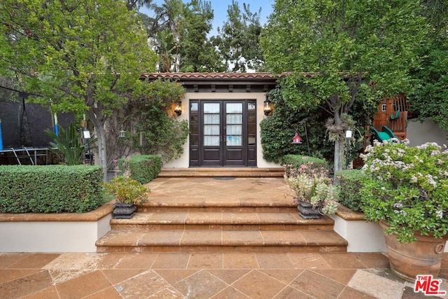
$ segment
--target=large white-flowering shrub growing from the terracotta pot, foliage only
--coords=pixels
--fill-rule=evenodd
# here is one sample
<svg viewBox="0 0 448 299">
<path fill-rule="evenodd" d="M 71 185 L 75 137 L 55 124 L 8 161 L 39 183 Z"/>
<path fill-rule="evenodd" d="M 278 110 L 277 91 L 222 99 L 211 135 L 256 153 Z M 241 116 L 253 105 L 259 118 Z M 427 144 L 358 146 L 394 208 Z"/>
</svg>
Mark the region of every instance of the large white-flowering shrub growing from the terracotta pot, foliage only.
<svg viewBox="0 0 448 299">
<path fill-rule="evenodd" d="M 362 155 L 367 179 L 360 195 L 365 218 L 384 220 L 387 234 L 414 242 L 414 232 L 448 235 L 448 151 L 435 143 L 416 147 L 376 142 Z"/>
</svg>

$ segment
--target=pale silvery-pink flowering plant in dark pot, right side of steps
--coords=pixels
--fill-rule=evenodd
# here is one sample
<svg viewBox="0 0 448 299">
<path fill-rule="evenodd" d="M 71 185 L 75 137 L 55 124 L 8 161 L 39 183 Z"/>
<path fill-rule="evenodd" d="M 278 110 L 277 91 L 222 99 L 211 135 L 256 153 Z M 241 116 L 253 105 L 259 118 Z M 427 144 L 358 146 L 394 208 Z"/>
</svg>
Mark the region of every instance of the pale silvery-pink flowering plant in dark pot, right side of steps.
<svg viewBox="0 0 448 299">
<path fill-rule="evenodd" d="M 323 214 L 335 214 L 335 187 L 328 171 L 311 166 L 305 163 L 299 168 L 290 168 L 289 174 L 284 175 L 299 215 L 304 219 L 318 219 Z"/>
</svg>

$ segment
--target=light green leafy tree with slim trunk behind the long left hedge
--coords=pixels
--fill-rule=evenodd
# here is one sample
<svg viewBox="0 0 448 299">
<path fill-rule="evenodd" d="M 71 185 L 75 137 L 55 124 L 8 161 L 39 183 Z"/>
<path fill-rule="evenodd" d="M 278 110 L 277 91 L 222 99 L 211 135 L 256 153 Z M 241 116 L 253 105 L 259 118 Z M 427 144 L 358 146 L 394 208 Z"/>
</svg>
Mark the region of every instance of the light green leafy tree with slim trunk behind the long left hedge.
<svg viewBox="0 0 448 299">
<path fill-rule="evenodd" d="M 3 0 L 0 73 L 13 71 L 25 91 L 52 111 L 85 113 L 107 171 L 104 124 L 141 73 L 155 69 L 146 32 L 123 0 Z"/>
</svg>

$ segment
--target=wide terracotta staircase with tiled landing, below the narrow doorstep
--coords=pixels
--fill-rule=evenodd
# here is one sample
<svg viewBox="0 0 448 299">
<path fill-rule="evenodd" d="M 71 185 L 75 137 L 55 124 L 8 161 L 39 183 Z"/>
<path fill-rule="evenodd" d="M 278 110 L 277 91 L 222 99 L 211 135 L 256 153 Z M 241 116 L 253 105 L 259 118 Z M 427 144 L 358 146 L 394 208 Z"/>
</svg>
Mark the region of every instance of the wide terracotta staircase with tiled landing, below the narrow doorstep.
<svg viewBox="0 0 448 299">
<path fill-rule="evenodd" d="M 149 201 L 132 219 L 112 219 L 97 251 L 346 251 L 331 218 L 298 215 L 283 179 L 217 175 L 155 179 Z"/>
</svg>

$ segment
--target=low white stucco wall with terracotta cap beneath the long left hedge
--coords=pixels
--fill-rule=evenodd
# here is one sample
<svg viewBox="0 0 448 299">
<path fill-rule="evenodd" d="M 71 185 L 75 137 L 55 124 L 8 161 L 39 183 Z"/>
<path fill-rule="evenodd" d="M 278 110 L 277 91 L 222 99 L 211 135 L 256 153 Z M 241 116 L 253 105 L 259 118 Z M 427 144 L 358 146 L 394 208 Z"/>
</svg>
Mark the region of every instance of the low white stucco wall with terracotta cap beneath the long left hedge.
<svg viewBox="0 0 448 299">
<path fill-rule="evenodd" d="M 95 252 L 113 202 L 87 213 L 0 214 L 0 252 Z"/>
</svg>

